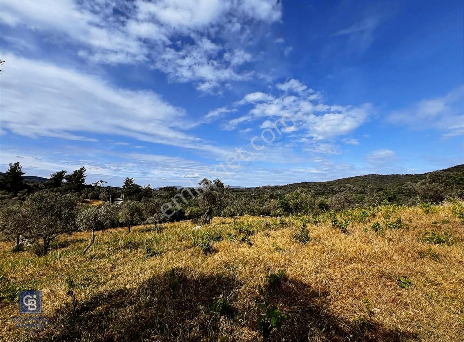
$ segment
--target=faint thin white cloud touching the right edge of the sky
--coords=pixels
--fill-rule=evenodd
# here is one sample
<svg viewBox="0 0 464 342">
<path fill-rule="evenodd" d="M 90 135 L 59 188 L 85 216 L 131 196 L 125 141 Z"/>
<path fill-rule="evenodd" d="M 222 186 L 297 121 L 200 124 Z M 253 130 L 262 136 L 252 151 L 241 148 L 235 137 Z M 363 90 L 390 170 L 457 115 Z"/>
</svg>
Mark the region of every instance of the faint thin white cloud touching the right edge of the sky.
<svg viewBox="0 0 464 342">
<path fill-rule="evenodd" d="M 453 89 L 447 95 L 425 99 L 411 108 L 392 112 L 387 120 L 413 129 L 436 128 L 445 138 L 464 134 L 464 87 Z"/>
</svg>

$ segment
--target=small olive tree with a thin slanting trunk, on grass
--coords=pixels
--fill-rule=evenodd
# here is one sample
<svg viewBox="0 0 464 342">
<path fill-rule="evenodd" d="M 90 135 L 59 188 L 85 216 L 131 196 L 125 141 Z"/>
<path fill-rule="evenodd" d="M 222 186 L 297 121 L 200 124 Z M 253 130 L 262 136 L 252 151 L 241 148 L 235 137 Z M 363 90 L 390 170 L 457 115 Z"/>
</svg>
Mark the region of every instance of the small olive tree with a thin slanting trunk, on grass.
<svg viewBox="0 0 464 342">
<path fill-rule="evenodd" d="M 89 207 L 77 214 L 77 228 L 91 232 L 90 244 L 84 249 L 83 255 L 95 242 L 95 232 L 114 227 L 117 222 L 117 205 L 103 204 L 99 207 Z"/>
</svg>

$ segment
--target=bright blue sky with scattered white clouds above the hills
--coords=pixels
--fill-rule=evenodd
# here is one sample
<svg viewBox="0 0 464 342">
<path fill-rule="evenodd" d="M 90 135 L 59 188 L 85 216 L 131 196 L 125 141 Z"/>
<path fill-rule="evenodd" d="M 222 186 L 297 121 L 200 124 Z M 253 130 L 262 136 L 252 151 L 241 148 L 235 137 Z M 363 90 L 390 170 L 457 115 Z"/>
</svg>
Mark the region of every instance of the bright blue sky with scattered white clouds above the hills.
<svg viewBox="0 0 464 342">
<path fill-rule="evenodd" d="M 462 164 L 462 18 L 459 0 L 2 0 L 0 166 L 156 187 Z"/>
</svg>

